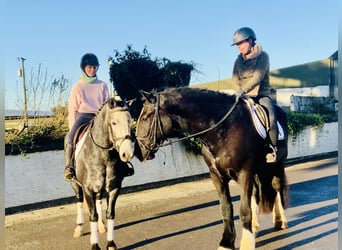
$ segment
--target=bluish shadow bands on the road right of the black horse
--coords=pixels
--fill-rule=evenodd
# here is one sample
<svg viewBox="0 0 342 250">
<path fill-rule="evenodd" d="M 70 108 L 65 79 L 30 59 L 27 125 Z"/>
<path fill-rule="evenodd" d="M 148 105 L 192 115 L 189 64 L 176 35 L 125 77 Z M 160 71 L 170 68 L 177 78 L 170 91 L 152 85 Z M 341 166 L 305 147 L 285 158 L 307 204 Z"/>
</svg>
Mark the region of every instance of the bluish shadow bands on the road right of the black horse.
<svg viewBox="0 0 342 250">
<path fill-rule="evenodd" d="M 322 166 L 317 166 L 317 167 L 322 167 Z M 337 200 L 337 197 L 338 197 L 337 181 L 338 181 L 338 176 L 333 175 L 333 176 L 322 177 L 319 179 L 304 181 L 301 183 L 290 185 L 290 197 L 291 197 L 290 207 L 294 208 L 294 207 L 301 207 L 304 205 L 317 207 L 317 206 L 320 206 L 320 204 L 317 204 L 317 203 L 334 201 L 335 199 Z M 281 235 L 275 235 L 272 238 L 268 238 L 266 240 L 257 242 L 256 246 L 263 247 L 272 242 L 288 239 L 292 236 L 298 235 L 303 232 L 307 232 L 309 230 L 315 230 L 315 229 L 317 230 L 319 228 L 324 228 L 324 226 L 327 226 L 330 223 L 337 223 L 338 222 L 337 212 L 338 212 L 337 201 L 334 204 L 320 206 L 312 210 L 306 209 L 304 212 L 299 212 L 298 214 L 296 214 L 297 219 L 294 219 L 288 222 L 289 229 L 294 228 L 296 226 L 299 226 L 300 229 L 291 231 L 291 232 L 287 232 L 287 230 L 285 230 L 283 231 L 284 233 Z M 334 213 L 336 213 L 336 216 L 333 215 Z M 334 217 L 324 222 L 320 222 L 320 223 L 317 223 L 315 221 L 317 218 L 320 218 L 326 215 L 332 215 Z M 301 227 L 301 225 L 304 225 L 305 223 L 310 223 L 310 226 Z M 337 231 L 338 231 L 338 228 L 336 225 L 336 228 L 326 229 L 325 231 L 323 230 L 321 233 L 314 235 L 314 236 L 303 238 L 297 241 L 289 240 L 289 242 L 291 242 L 289 245 L 282 246 L 281 248 L 278 248 L 278 249 L 282 249 L 282 250 L 294 249 L 295 247 L 300 247 L 310 242 L 316 241 L 320 238 L 326 237 L 330 234 L 337 233 Z M 258 236 L 259 237 L 265 236 L 272 232 L 274 232 L 273 228 L 263 230 L 259 232 Z"/>
</svg>

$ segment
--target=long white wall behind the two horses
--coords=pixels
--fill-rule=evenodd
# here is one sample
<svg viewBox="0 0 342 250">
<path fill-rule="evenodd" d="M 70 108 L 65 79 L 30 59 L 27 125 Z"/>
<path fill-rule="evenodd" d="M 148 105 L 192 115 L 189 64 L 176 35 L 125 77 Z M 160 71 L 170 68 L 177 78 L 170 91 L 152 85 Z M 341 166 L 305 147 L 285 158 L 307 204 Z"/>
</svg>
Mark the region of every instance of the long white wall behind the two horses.
<svg viewBox="0 0 342 250">
<path fill-rule="evenodd" d="M 336 152 L 337 122 L 323 128 L 307 128 L 295 140 L 289 139 L 288 159 Z M 208 173 L 202 156 L 184 153 L 183 145 L 174 143 L 161 148 L 156 158 L 132 163 L 135 175 L 124 179 L 123 186 L 137 186 L 163 180 Z M 165 162 L 165 164 L 164 164 Z M 15 207 L 74 196 L 63 180 L 63 151 L 48 151 L 27 156 L 5 157 L 5 207 Z"/>
</svg>

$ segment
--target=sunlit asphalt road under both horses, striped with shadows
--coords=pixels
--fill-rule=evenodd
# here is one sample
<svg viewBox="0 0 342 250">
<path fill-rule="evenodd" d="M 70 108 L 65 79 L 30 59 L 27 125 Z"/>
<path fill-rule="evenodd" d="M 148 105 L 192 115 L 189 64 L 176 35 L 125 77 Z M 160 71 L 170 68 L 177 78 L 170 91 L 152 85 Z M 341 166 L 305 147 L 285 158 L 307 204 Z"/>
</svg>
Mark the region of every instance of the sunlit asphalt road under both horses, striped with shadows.
<svg viewBox="0 0 342 250">
<path fill-rule="evenodd" d="M 286 168 L 289 228 L 274 231 L 272 216 L 259 217 L 257 249 L 338 249 L 337 158 Z M 236 247 L 241 223 L 239 187 L 231 184 Z M 5 249 L 90 249 L 90 231 L 73 238 L 76 206 L 65 205 L 5 217 Z M 222 234 L 220 209 L 210 179 L 123 194 L 117 202 L 115 241 L 119 249 L 216 249 Z M 105 249 L 106 235 L 99 237 Z"/>
</svg>

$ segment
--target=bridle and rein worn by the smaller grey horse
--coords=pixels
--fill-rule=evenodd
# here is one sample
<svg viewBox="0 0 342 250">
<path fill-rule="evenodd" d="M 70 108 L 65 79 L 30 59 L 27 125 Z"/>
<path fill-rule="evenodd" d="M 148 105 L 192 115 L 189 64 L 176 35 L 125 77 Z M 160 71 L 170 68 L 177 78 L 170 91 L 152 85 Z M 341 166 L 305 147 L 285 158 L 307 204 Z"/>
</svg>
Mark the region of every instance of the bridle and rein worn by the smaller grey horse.
<svg viewBox="0 0 342 250">
<path fill-rule="evenodd" d="M 115 107 L 113 111 L 111 112 L 128 112 L 128 109 L 127 107 Z M 110 123 L 111 121 L 109 121 Z M 113 138 L 113 140 L 111 141 L 111 143 L 108 145 L 108 146 L 102 146 L 100 145 L 99 143 L 97 143 L 94 139 L 94 136 L 93 136 L 93 133 L 92 133 L 92 129 L 93 129 L 93 126 L 94 126 L 94 119 L 91 121 L 91 124 L 89 126 L 89 135 L 90 135 L 90 139 L 91 141 L 99 148 L 103 149 L 103 150 L 110 150 L 110 149 L 115 149 L 116 151 L 119 152 L 120 150 L 120 147 L 122 145 L 122 143 L 125 141 L 125 140 L 133 140 L 133 137 L 130 135 L 130 134 L 127 134 L 127 135 L 124 135 L 122 137 L 116 137 L 114 135 L 114 132 L 109 124 L 109 127 L 110 127 L 110 134 L 111 134 L 111 138 Z M 119 143 L 120 142 L 120 143 Z"/>
</svg>

